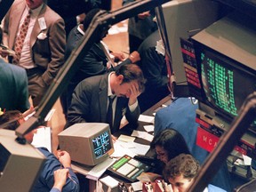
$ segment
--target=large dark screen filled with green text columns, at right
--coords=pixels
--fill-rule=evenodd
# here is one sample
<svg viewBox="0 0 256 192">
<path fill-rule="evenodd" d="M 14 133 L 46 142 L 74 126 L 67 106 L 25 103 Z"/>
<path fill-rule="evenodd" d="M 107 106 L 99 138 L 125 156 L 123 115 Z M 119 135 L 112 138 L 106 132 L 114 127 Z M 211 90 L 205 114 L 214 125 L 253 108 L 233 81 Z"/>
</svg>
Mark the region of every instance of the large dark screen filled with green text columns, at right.
<svg viewBox="0 0 256 192">
<path fill-rule="evenodd" d="M 255 70 L 203 44 L 195 44 L 205 100 L 221 114 L 235 117 L 246 97 L 256 91 Z"/>
</svg>

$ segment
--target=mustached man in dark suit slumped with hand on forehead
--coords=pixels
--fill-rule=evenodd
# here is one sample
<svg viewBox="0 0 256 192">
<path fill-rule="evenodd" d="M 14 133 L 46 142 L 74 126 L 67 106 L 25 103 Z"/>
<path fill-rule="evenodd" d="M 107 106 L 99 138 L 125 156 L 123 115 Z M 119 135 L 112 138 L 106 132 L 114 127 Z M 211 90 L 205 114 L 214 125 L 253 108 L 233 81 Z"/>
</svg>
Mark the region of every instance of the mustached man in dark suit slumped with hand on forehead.
<svg viewBox="0 0 256 192">
<path fill-rule="evenodd" d="M 108 123 L 108 97 L 114 96 L 111 132 L 118 132 L 123 116 L 130 124 L 137 124 L 140 107 L 137 97 L 144 91 L 145 79 L 139 66 L 124 64 L 101 76 L 92 76 L 80 82 L 68 108 L 66 128 L 76 123 Z"/>
</svg>

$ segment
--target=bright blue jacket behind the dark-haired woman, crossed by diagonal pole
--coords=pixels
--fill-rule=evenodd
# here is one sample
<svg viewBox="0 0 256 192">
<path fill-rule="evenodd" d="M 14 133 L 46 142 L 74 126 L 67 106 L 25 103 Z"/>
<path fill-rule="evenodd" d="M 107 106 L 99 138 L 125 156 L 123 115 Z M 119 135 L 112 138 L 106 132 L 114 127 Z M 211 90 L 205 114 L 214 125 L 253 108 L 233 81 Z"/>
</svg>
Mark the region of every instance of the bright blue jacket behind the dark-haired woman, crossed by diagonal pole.
<svg viewBox="0 0 256 192">
<path fill-rule="evenodd" d="M 192 104 L 188 98 L 173 100 L 167 108 L 162 108 L 156 112 L 154 133 L 162 132 L 168 129 L 168 127 L 177 130 L 188 144 L 191 155 L 200 164 L 203 164 L 209 152 L 196 145 L 196 132 L 199 126 L 199 124 L 196 124 L 196 108 L 198 108 L 198 105 Z M 226 163 L 221 164 L 219 172 L 216 173 L 211 183 L 228 192 L 232 191 L 231 179 Z"/>
</svg>

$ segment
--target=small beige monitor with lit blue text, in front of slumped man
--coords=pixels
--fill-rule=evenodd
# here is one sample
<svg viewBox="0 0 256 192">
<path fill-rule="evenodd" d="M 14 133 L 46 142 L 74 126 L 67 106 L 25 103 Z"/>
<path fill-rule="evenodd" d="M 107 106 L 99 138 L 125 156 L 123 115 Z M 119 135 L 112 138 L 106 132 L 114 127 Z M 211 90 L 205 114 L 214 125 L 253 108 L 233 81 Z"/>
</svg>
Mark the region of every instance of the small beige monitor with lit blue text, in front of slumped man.
<svg viewBox="0 0 256 192">
<path fill-rule="evenodd" d="M 114 152 L 108 124 L 74 124 L 58 135 L 60 149 L 68 151 L 71 160 L 93 166 L 100 164 Z"/>
</svg>

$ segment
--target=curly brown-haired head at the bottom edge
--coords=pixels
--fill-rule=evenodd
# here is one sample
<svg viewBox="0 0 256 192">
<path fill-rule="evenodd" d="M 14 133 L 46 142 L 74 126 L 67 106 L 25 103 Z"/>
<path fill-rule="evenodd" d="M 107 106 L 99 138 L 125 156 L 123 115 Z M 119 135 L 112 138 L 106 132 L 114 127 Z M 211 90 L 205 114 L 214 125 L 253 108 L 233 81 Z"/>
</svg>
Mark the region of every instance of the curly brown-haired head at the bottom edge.
<svg viewBox="0 0 256 192">
<path fill-rule="evenodd" d="M 174 192 L 185 192 L 193 182 L 200 165 L 188 154 L 180 154 L 171 159 L 164 168 L 164 177 L 172 184 Z"/>
</svg>

